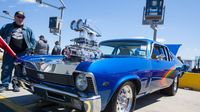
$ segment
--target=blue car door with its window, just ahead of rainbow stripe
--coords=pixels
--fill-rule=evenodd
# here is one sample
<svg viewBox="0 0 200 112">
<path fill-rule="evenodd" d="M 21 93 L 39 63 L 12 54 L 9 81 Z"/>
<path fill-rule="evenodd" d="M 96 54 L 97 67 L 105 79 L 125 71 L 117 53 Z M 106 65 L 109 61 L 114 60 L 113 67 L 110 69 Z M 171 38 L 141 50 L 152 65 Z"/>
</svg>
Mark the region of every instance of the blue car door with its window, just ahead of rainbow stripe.
<svg viewBox="0 0 200 112">
<path fill-rule="evenodd" d="M 171 64 L 169 63 L 169 56 L 166 47 L 159 44 L 154 44 L 151 54 L 151 84 L 150 91 L 156 91 L 163 86 L 167 86 L 166 81 L 162 79 L 165 74 L 170 70 Z"/>
</svg>

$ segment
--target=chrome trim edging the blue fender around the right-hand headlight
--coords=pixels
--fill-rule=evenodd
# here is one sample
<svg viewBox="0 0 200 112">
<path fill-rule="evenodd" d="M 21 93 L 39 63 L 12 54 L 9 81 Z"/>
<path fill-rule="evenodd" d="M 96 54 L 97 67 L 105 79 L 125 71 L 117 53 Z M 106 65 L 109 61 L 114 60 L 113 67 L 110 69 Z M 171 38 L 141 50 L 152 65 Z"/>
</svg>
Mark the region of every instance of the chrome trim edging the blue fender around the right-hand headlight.
<svg viewBox="0 0 200 112">
<path fill-rule="evenodd" d="M 97 86 L 96 86 L 96 79 L 95 79 L 93 73 L 91 73 L 91 72 L 83 72 L 83 71 L 78 71 L 78 70 L 75 70 L 74 73 L 82 73 L 82 74 L 85 74 L 86 77 L 91 77 L 93 85 L 94 85 L 94 92 L 95 92 L 96 95 L 98 95 Z"/>
</svg>

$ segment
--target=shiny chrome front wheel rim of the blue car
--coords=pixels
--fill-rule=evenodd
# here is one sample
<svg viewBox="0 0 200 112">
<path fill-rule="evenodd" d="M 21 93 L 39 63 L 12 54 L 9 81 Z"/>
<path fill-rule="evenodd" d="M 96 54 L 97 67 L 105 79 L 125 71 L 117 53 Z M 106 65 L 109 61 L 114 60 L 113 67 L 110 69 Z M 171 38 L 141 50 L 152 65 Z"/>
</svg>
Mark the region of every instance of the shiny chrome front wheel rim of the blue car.
<svg viewBox="0 0 200 112">
<path fill-rule="evenodd" d="M 133 91 L 130 85 L 119 90 L 117 95 L 116 112 L 129 112 L 133 105 Z"/>
</svg>

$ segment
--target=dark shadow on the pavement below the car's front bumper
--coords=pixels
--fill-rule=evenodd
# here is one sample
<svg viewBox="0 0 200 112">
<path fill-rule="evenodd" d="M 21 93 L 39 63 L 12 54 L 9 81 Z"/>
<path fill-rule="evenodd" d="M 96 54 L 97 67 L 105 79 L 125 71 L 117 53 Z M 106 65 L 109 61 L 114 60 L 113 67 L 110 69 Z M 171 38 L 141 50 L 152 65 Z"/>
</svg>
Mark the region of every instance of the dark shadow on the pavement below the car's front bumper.
<svg viewBox="0 0 200 112">
<path fill-rule="evenodd" d="M 0 98 L 0 112 L 76 112 L 35 95 Z"/>
</svg>

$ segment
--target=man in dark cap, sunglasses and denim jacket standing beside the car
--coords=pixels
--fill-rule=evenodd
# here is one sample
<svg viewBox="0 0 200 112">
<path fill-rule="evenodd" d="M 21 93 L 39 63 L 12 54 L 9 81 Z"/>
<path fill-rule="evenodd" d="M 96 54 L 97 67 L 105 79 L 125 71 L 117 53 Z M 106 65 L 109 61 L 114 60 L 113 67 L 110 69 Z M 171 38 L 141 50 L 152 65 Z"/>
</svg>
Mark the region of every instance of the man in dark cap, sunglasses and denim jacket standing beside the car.
<svg viewBox="0 0 200 112">
<path fill-rule="evenodd" d="M 25 14 L 22 11 L 17 11 L 14 15 L 14 22 L 4 25 L 0 29 L 0 35 L 18 57 L 25 55 L 27 52 L 33 52 L 35 48 L 35 38 L 32 30 L 24 25 Z M 2 72 L 0 92 L 8 90 L 9 83 L 12 78 L 14 68 L 14 57 L 6 51 L 3 54 Z M 17 69 L 14 72 L 14 77 L 19 77 Z M 14 78 L 15 79 L 15 78 Z M 16 82 L 16 81 L 14 81 Z M 19 85 L 13 83 L 13 91 L 19 92 Z"/>
</svg>

